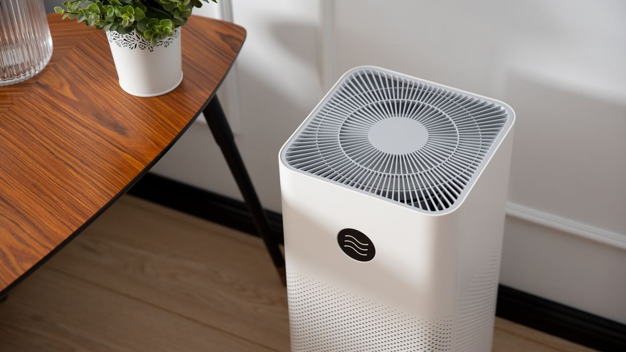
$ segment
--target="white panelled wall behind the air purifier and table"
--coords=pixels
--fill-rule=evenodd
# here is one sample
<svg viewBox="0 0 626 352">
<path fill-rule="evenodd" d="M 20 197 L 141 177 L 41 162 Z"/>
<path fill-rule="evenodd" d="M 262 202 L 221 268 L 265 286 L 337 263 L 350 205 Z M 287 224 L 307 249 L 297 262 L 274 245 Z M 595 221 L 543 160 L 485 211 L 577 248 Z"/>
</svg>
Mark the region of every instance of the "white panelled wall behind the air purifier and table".
<svg viewBox="0 0 626 352">
<path fill-rule="evenodd" d="M 222 4 L 223 6 L 223 4 Z M 232 0 L 237 142 L 280 210 L 277 152 L 332 81 L 379 65 L 518 114 L 501 282 L 626 323 L 626 3 Z M 234 96 L 233 96 L 234 95 Z M 205 125 L 153 169 L 240 198 Z"/>
</svg>

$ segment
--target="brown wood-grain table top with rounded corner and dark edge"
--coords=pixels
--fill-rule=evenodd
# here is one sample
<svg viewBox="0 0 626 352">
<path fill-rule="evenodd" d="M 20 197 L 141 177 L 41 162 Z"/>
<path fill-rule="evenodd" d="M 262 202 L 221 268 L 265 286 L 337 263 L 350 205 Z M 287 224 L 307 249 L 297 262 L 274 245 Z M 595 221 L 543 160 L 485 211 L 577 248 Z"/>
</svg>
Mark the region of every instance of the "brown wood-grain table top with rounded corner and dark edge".
<svg viewBox="0 0 626 352">
<path fill-rule="evenodd" d="M 53 56 L 0 86 L 0 295 L 69 242 L 168 150 L 237 57 L 245 29 L 192 16 L 172 92 L 121 90 L 106 35 L 48 15 Z M 207 130 L 207 138 L 210 138 Z"/>
</svg>

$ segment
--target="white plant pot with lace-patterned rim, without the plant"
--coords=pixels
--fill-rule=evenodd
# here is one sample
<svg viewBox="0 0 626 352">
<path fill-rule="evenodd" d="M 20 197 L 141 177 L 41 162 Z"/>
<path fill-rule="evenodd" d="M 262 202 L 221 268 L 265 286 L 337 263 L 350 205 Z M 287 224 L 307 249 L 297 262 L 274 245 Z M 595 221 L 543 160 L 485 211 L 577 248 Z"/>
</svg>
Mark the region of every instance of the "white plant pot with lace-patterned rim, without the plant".
<svg viewBox="0 0 626 352">
<path fill-rule="evenodd" d="M 136 31 L 106 32 L 121 89 L 136 96 L 168 93 L 183 80 L 180 27 L 152 46 Z"/>
</svg>

